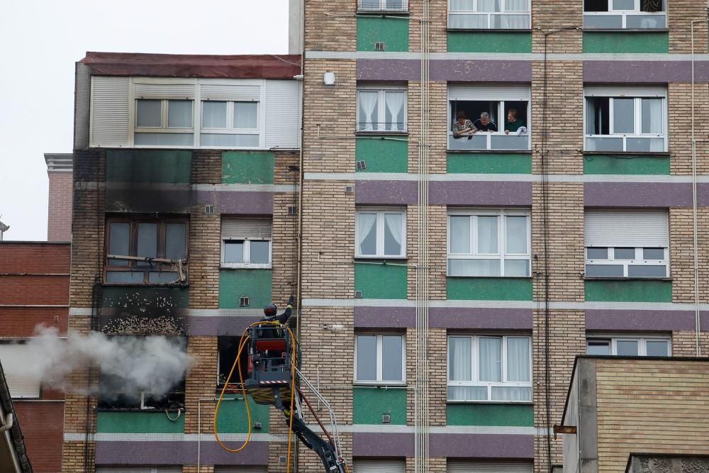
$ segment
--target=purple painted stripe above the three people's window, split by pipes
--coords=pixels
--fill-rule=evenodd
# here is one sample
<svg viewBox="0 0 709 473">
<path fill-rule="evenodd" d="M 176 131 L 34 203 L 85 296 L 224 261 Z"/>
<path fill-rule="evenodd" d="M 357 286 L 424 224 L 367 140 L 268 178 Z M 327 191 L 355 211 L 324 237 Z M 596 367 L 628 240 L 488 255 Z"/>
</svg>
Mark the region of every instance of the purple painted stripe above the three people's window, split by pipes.
<svg viewBox="0 0 709 473">
<path fill-rule="evenodd" d="M 358 80 L 420 80 L 415 59 L 359 59 Z M 438 81 L 531 82 L 531 61 L 433 60 L 430 78 Z"/>
</svg>

